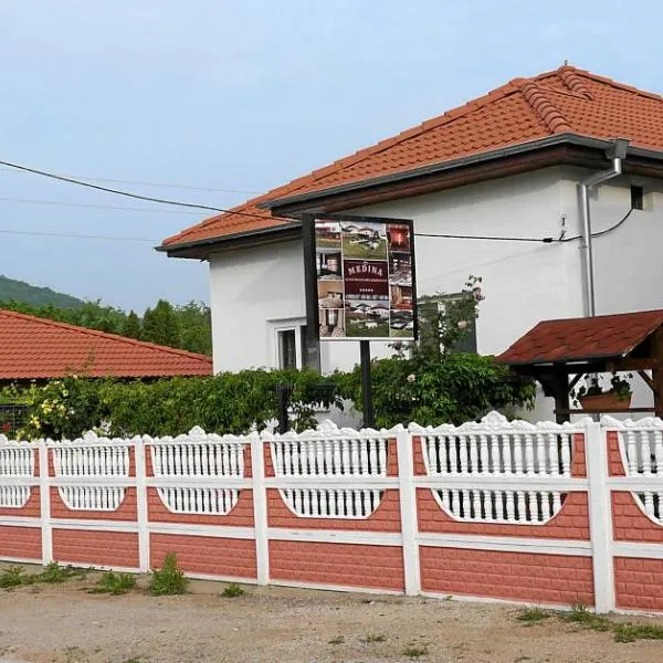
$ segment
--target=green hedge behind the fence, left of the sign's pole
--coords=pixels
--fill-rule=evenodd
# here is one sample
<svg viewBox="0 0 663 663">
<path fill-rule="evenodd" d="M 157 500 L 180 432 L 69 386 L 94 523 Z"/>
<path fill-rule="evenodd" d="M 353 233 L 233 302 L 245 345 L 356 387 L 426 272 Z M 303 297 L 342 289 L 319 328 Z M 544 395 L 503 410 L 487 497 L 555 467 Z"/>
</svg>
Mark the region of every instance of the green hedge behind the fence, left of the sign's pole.
<svg viewBox="0 0 663 663">
<path fill-rule="evenodd" d="M 66 377 L 11 389 L 28 404 L 25 439 L 72 439 L 88 430 L 131 436 L 177 435 L 199 425 L 207 432 L 246 433 L 277 418 L 276 387 L 291 385 L 294 425 L 315 425 L 314 406 L 336 402 L 332 380 L 313 371 L 244 370 L 203 378 L 118 381 Z M 340 402 L 338 402 L 340 404 Z"/>
</svg>

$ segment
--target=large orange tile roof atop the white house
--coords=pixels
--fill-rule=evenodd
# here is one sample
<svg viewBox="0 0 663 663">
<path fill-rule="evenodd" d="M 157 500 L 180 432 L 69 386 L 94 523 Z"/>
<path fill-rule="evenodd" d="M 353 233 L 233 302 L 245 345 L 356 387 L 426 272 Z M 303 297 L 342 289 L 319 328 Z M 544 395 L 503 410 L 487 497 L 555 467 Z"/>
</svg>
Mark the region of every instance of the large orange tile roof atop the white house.
<svg viewBox="0 0 663 663">
<path fill-rule="evenodd" d="M 590 72 L 561 66 L 506 85 L 398 136 L 273 189 L 164 240 L 164 248 L 286 223 L 262 202 L 407 172 L 559 134 L 630 138 L 663 150 L 663 97 Z"/>
</svg>

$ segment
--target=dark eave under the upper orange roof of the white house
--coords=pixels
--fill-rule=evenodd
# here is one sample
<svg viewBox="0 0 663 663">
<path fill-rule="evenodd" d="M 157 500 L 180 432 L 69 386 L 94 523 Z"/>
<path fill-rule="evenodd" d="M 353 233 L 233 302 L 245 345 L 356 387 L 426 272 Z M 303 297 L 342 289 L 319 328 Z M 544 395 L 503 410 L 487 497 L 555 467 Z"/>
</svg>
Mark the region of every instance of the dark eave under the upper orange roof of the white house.
<svg viewBox="0 0 663 663">
<path fill-rule="evenodd" d="M 438 164 L 431 164 L 421 168 L 413 168 L 406 171 L 339 185 L 337 187 L 329 187 L 327 189 L 320 189 L 318 191 L 301 193 L 299 196 L 277 198 L 274 200 L 264 201 L 257 207 L 263 209 L 270 209 L 275 215 L 281 215 L 284 213 L 288 213 L 288 211 L 292 211 L 295 208 L 301 210 L 304 207 L 315 207 L 315 204 L 320 202 L 323 199 L 359 193 L 377 187 L 385 187 L 389 185 L 406 182 L 408 180 L 413 180 L 421 177 L 430 177 L 438 173 L 444 173 L 450 170 L 465 168 L 469 166 L 476 166 L 483 162 L 505 159 L 508 157 L 527 155 L 528 152 L 539 151 L 552 147 L 578 146 L 606 151 L 606 149 L 609 148 L 611 145 L 612 140 L 610 139 L 593 138 L 591 136 L 582 136 L 579 134 L 569 133 L 558 134 L 555 136 L 538 138 L 536 140 L 529 140 L 527 143 L 520 143 L 517 145 L 502 147 L 491 151 L 483 151 L 480 154 L 470 155 L 467 157 L 461 157 L 459 159 L 450 159 Z M 663 161 L 663 151 L 659 150 L 630 147 L 629 155 Z"/>
</svg>

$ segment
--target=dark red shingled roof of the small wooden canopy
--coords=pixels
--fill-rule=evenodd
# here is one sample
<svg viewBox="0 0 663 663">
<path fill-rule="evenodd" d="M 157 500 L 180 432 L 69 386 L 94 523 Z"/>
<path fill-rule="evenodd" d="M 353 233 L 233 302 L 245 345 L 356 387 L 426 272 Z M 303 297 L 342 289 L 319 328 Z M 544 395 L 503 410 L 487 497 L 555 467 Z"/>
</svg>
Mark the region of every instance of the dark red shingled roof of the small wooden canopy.
<svg viewBox="0 0 663 663">
<path fill-rule="evenodd" d="M 623 358 L 663 325 L 663 311 L 544 320 L 497 357 L 501 364 Z"/>
</svg>

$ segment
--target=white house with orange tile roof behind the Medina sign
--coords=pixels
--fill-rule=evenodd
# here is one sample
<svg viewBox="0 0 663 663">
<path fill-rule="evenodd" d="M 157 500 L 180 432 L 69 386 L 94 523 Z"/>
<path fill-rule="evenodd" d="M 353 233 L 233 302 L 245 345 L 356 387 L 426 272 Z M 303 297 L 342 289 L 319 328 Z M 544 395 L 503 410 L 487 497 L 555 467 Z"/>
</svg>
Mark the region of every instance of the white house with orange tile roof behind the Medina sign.
<svg viewBox="0 0 663 663">
<path fill-rule="evenodd" d="M 515 78 L 168 238 L 209 262 L 214 370 L 276 366 L 284 344 L 302 364 L 303 212 L 412 219 L 418 296 L 483 276 L 482 354 L 540 319 L 661 308 L 663 98 L 566 65 Z M 323 370 L 357 345 L 323 343 Z"/>
</svg>

